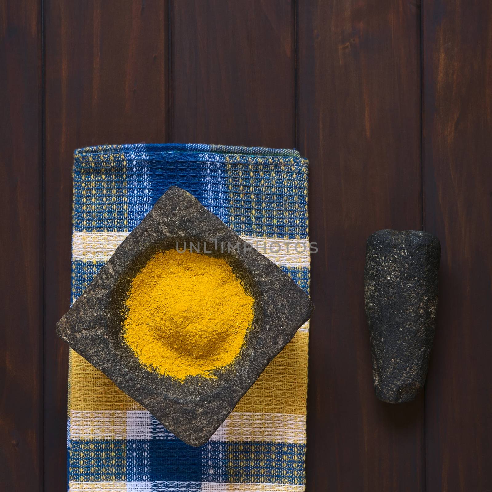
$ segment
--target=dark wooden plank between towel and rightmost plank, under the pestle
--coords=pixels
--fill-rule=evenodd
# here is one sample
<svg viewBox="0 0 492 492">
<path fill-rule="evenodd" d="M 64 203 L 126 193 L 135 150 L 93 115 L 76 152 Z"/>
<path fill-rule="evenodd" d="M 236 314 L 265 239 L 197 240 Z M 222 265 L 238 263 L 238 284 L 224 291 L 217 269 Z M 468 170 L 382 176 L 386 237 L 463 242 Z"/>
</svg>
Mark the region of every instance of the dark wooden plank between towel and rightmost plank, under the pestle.
<svg viewBox="0 0 492 492">
<path fill-rule="evenodd" d="M 308 491 L 423 491 L 424 399 L 379 402 L 364 313 L 368 236 L 421 229 L 420 11 L 299 1 L 299 148 L 310 161 Z"/>
</svg>

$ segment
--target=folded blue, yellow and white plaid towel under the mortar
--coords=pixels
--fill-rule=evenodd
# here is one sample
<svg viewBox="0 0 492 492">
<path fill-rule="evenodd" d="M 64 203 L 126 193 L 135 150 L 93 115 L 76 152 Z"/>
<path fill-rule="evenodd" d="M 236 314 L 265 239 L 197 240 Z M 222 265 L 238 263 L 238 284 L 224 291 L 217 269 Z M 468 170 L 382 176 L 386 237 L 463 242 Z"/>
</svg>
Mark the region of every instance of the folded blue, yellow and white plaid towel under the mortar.
<svg viewBox="0 0 492 492">
<path fill-rule="evenodd" d="M 298 152 L 138 144 L 79 149 L 74 159 L 72 302 L 173 184 L 308 292 L 307 160 Z M 70 350 L 69 490 L 303 491 L 307 338 L 306 324 L 199 448 Z"/>
</svg>

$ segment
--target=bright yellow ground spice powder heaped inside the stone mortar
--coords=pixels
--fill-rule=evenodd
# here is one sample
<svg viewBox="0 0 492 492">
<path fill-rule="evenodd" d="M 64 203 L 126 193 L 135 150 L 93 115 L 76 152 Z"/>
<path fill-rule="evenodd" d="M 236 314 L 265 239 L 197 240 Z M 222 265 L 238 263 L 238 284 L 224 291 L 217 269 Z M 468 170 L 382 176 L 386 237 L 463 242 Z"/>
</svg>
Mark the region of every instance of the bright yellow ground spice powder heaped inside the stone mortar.
<svg viewBox="0 0 492 492">
<path fill-rule="evenodd" d="M 157 252 L 133 278 L 123 338 L 148 369 L 180 381 L 215 377 L 238 356 L 253 298 L 222 258 Z"/>
</svg>

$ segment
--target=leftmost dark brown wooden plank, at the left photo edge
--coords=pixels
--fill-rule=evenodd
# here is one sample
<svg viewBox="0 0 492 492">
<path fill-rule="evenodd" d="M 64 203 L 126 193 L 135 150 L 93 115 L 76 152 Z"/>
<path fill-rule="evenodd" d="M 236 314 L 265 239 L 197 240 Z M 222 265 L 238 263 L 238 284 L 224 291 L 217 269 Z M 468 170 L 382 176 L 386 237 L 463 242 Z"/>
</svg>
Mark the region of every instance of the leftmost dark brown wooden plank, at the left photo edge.
<svg viewBox="0 0 492 492">
<path fill-rule="evenodd" d="M 0 488 L 42 490 L 41 12 L 0 5 Z M 29 470 L 29 471 L 28 471 Z"/>
</svg>

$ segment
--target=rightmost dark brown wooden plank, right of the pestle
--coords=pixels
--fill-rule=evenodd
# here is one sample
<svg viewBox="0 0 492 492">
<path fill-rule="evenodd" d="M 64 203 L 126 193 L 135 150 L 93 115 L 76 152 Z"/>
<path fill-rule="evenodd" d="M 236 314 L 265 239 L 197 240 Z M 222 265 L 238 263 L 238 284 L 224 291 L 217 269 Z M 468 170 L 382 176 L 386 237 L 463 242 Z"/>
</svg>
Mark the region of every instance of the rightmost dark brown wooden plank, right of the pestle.
<svg viewBox="0 0 492 492">
<path fill-rule="evenodd" d="M 492 490 L 492 4 L 423 3 L 425 227 L 441 240 L 429 492 Z"/>
</svg>

